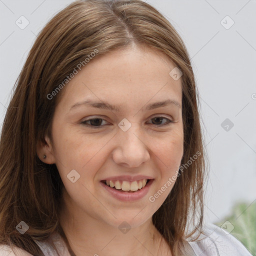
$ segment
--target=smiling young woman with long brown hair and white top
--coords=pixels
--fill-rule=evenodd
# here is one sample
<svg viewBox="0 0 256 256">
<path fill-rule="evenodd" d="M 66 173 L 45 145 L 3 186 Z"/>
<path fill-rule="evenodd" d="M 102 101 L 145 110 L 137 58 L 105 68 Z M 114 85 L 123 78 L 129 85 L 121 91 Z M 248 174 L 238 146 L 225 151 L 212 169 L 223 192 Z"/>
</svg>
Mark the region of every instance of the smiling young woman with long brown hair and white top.
<svg viewBox="0 0 256 256">
<path fill-rule="evenodd" d="M 140 0 L 74 1 L 38 35 L 5 115 L 1 255 L 250 255 L 203 225 L 203 155 L 171 24 Z"/>
</svg>

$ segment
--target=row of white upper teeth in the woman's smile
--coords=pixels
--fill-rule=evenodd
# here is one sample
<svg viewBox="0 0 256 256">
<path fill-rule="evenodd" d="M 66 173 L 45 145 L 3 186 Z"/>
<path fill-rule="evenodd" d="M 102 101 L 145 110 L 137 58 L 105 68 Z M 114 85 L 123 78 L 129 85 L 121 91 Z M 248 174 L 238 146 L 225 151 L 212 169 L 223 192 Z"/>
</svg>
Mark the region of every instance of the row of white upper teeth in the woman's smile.
<svg viewBox="0 0 256 256">
<path fill-rule="evenodd" d="M 146 181 L 147 179 L 134 180 L 131 182 L 126 180 L 106 180 L 106 184 L 123 191 L 137 191 L 146 185 Z"/>
</svg>

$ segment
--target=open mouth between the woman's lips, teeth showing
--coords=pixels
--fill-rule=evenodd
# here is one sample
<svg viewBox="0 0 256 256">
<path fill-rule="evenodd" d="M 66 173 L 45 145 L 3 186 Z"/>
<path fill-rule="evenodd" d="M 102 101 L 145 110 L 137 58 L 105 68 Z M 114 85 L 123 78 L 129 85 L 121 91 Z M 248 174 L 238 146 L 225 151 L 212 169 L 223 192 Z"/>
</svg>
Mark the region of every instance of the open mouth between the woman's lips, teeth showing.
<svg viewBox="0 0 256 256">
<path fill-rule="evenodd" d="M 100 180 L 103 184 L 111 189 L 118 190 L 120 192 L 135 193 L 142 190 L 145 186 L 152 183 L 153 179 L 140 179 L 134 181 L 125 180 Z"/>
</svg>

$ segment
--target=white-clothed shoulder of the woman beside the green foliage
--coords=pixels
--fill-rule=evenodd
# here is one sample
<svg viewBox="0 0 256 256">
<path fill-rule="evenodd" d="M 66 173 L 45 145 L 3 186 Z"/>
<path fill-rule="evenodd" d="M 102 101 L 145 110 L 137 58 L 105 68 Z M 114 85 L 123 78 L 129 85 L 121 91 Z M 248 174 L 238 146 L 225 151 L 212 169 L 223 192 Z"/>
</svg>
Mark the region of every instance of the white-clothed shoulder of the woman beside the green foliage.
<svg viewBox="0 0 256 256">
<path fill-rule="evenodd" d="M 204 233 L 196 241 L 188 241 L 195 255 L 252 256 L 244 245 L 230 233 L 212 224 L 204 224 Z"/>
</svg>

